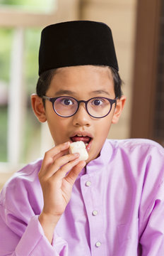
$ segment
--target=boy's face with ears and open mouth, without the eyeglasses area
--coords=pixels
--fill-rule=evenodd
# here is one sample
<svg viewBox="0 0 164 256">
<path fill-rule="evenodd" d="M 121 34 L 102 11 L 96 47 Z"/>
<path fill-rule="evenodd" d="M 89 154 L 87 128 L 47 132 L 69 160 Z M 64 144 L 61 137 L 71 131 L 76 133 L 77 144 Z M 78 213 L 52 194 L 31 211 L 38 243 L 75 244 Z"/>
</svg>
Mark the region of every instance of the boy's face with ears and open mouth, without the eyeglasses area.
<svg viewBox="0 0 164 256">
<path fill-rule="evenodd" d="M 107 67 L 92 65 L 59 68 L 49 85 L 46 96 L 71 96 L 76 100 L 88 100 L 92 97 L 115 99 L 112 73 Z M 41 122 L 47 120 L 54 144 L 77 140 L 85 141 L 88 143 L 89 158 L 87 162 L 95 159 L 100 153 L 110 126 L 118 121 L 125 102 L 124 97 L 117 100 L 117 107 L 113 104 L 110 114 L 103 118 L 91 117 L 86 112 L 84 103 L 80 104 L 78 112 L 74 116 L 59 117 L 52 108 L 52 102 L 46 100 L 44 109 L 41 107 L 42 100 L 37 95 L 34 98 L 35 100 L 32 99 L 32 102 L 35 102 L 33 103 L 35 114 Z M 39 104 L 40 112 L 42 112 L 40 115 L 38 115 Z"/>
</svg>

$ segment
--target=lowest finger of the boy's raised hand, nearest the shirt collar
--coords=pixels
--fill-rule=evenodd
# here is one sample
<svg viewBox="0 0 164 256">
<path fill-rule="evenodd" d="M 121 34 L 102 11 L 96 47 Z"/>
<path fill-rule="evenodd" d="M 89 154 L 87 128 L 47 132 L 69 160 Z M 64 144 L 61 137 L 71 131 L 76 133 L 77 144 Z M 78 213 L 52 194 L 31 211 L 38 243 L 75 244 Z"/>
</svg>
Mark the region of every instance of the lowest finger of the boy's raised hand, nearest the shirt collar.
<svg viewBox="0 0 164 256">
<path fill-rule="evenodd" d="M 78 174 L 80 174 L 84 166 L 86 166 L 86 161 L 79 161 L 79 163 L 76 164 L 76 166 L 74 166 L 74 168 L 72 168 L 69 174 L 65 177 L 66 181 L 71 183 L 71 186 L 74 185 Z"/>
</svg>

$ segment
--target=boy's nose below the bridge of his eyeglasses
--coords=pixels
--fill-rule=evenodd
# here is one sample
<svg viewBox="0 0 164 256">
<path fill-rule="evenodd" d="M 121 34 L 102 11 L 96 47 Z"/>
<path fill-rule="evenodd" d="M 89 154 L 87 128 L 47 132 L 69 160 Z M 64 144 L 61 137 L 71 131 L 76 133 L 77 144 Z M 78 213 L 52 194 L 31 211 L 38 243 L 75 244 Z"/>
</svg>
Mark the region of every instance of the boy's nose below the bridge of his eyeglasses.
<svg viewBox="0 0 164 256">
<path fill-rule="evenodd" d="M 90 126 L 91 117 L 86 111 L 84 103 L 81 103 L 78 111 L 73 116 L 73 124 L 75 126 Z"/>
</svg>

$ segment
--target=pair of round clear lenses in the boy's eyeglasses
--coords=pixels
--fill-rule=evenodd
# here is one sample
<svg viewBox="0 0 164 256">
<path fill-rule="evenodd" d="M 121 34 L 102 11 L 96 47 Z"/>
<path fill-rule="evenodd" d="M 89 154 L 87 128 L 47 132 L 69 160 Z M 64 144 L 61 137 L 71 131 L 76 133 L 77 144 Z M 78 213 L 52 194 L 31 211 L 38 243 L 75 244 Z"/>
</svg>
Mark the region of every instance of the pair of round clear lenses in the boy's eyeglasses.
<svg viewBox="0 0 164 256">
<path fill-rule="evenodd" d="M 54 102 L 54 110 L 62 117 L 73 115 L 77 109 L 78 102 L 72 97 L 59 97 Z M 103 97 L 90 99 L 87 103 L 87 111 L 93 117 L 104 117 L 110 109 L 110 102 Z"/>
</svg>

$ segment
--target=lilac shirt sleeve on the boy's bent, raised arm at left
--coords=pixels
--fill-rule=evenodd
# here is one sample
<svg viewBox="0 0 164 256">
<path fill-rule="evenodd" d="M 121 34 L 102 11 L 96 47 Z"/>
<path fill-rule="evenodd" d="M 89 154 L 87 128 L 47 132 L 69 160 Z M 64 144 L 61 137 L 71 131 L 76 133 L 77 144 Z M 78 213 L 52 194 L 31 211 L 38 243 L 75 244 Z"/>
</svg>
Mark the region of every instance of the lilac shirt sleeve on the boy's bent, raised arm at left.
<svg viewBox="0 0 164 256">
<path fill-rule="evenodd" d="M 25 167 L 5 184 L 0 194 L 0 256 L 68 255 L 67 242 L 56 232 L 52 245 L 47 240 L 38 220 L 41 209 L 37 171 Z"/>
</svg>

